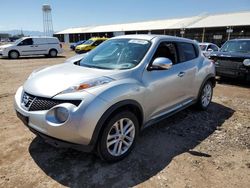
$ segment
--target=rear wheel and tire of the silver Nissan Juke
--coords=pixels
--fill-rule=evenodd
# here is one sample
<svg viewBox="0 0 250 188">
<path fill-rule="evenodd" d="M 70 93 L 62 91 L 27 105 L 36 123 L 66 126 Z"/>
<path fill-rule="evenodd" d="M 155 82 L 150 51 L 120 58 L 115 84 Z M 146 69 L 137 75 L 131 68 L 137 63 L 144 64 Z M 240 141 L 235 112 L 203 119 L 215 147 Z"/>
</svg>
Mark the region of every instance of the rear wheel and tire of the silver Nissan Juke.
<svg viewBox="0 0 250 188">
<path fill-rule="evenodd" d="M 208 106 L 211 103 L 213 97 L 213 85 L 210 81 L 207 81 L 201 91 L 198 98 L 197 106 L 201 110 L 207 110 Z"/>
</svg>

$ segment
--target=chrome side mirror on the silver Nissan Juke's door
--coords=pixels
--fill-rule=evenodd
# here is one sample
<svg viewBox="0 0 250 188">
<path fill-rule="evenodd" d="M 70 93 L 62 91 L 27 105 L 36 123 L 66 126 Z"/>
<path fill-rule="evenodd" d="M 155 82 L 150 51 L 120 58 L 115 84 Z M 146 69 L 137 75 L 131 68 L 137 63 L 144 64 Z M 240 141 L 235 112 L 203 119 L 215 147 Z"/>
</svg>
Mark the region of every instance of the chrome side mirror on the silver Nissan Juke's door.
<svg viewBox="0 0 250 188">
<path fill-rule="evenodd" d="M 168 70 L 173 66 L 173 62 L 165 57 L 157 57 L 149 70 Z"/>
</svg>

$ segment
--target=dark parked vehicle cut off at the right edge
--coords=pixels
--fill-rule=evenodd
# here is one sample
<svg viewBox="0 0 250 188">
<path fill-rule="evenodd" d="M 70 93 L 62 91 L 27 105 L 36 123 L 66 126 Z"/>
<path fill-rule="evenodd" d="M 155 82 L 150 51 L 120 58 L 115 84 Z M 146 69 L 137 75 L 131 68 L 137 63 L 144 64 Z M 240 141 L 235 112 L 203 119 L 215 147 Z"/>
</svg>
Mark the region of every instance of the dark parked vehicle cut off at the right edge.
<svg viewBox="0 0 250 188">
<path fill-rule="evenodd" d="M 210 59 L 215 62 L 216 75 L 250 81 L 250 39 L 229 40 Z"/>
</svg>

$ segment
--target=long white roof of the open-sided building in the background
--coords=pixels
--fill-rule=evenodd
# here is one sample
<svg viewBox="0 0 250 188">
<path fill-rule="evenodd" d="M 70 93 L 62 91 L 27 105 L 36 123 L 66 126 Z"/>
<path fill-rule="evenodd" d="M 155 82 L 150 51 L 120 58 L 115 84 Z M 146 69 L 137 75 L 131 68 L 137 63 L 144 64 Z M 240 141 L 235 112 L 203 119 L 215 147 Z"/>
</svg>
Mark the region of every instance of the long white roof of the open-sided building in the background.
<svg viewBox="0 0 250 188">
<path fill-rule="evenodd" d="M 55 34 L 74 33 L 100 33 L 119 31 L 143 31 L 161 29 L 182 29 L 182 28 L 204 28 L 204 27 L 225 27 L 225 26 L 250 26 L 250 11 L 199 15 L 187 18 L 165 19 L 155 21 L 144 21 L 124 24 L 89 26 L 80 28 L 70 28 Z"/>
</svg>

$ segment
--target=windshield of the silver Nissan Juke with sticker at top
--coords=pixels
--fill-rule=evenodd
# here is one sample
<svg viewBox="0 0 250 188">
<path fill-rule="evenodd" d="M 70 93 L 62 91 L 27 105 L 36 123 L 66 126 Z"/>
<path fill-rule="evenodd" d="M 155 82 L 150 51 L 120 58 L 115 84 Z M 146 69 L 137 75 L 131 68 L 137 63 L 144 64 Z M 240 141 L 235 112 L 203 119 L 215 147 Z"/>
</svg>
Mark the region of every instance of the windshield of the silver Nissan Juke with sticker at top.
<svg viewBox="0 0 250 188">
<path fill-rule="evenodd" d="M 102 43 L 82 59 L 80 66 L 99 69 L 130 69 L 140 63 L 151 43 L 139 39 L 114 39 Z"/>
</svg>

